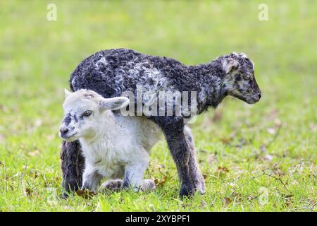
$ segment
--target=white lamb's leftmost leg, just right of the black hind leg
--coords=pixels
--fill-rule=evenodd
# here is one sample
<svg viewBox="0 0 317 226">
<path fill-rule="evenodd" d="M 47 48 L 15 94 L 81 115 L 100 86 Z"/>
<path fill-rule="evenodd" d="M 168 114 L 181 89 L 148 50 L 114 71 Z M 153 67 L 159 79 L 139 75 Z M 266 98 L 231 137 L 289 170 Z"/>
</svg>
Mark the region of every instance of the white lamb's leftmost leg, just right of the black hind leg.
<svg viewBox="0 0 317 226">
<path fill-rule="evenodd" d="M 102 177 L 89 162 L 86 161 L 85 165 L 85 171 L 82 175 L 82 190 L 88 189 L 89 191 L 97 191 Z"/>
</svg>

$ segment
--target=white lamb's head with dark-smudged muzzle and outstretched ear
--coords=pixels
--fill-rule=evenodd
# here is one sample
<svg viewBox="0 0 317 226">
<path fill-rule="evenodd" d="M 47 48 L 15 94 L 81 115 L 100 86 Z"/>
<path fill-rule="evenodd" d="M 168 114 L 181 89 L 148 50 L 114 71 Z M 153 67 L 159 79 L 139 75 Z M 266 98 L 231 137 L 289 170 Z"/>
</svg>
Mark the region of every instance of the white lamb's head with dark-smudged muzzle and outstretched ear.
<svg viewBox="0 0 317 226">
<path fill-rule="evenodd" d="M 129 104 L 127 97 L 104 98 L 92 90 L 77 90 L 74 93 L 65 90 L 63 103 L 64 119 L 59 136 L 65 141 L 78 138 L 94 138 L 101 129 L 105 111 L 120 109 Z"/>
</svg>

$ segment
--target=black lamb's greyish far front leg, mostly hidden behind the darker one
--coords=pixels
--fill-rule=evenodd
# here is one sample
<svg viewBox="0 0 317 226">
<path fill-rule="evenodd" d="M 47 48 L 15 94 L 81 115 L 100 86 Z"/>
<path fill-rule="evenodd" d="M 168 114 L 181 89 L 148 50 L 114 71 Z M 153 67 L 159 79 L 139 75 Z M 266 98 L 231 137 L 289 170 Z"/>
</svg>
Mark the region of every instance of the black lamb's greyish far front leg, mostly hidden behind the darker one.
<svg viewBox="0 0 317 226">
<path fill-rule="evenodd" d="M 192 131 L 189 129 L 188 126 L 185 126 L 184 133 L 187 145 L 189 147 L 189 174 L 192 177 L 194 188 L 198 190 L 201 194 L 204 194 L 205 181 L 197 162 L 196 148 L 194 146 L 194 138 L 192 137 Z"/>
</svg>

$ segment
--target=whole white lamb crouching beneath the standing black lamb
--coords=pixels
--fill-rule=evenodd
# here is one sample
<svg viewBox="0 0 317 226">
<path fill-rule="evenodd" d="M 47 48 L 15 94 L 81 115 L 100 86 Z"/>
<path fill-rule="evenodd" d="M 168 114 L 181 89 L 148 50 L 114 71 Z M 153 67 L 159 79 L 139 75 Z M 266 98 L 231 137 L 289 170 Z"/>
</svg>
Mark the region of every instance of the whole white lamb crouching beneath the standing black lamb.
<svg viewBox="0 0 317 226">
<path fill-rule="evenodd" d="M 110 190 L 154 189 L 154 182 L 143 179 L 143 174 L 149 165 L 149 150 L 161 135 L 159 127 L 143 117 L 113 113 L 129 104 L 126 97 L 106 99 L 92 90 L 65 92 L 60 136 L 68 142 L 78 139 L 82 145 L 82 190 L 97 191 L 103 178 L 110 179 L 102 184 Z"/>
</svg>

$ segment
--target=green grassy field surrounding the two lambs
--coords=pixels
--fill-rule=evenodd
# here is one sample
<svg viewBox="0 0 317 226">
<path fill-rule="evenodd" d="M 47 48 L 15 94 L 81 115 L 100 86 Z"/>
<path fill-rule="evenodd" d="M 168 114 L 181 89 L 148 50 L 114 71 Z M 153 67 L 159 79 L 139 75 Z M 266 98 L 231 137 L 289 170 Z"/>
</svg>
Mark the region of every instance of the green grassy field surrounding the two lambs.
<svg viewBox="0 0 317 226">
<path fill-rule="evenodd" d="M 0 1 L 0 211 L 316 211 L 316 15 L 317 1 Z M 254 61 L 261 101 L 228 97 L 191 125 L 206 194 L 178 198 L 161 141 L 147 170 L 156 191 L 60 198 L 63 88 L 82 59 L 116 47 Z"/>
</svg>

